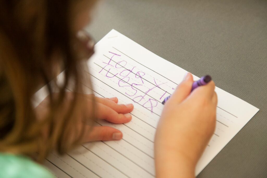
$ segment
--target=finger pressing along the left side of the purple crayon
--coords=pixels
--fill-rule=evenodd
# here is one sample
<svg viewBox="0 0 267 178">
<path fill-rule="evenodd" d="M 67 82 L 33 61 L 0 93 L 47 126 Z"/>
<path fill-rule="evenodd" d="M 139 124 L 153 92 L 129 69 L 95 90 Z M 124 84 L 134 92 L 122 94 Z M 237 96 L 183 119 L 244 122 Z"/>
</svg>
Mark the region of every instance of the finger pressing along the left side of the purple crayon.
<svg viewBox="0 0 267 178">
<path fill-rule="evenodd" d="M 192 74 L 187 73 L 184 80 L 177 86 L 176 90 L 170 97 L 170 102 L 182 102 L 190 94 L 193 82 Z"/>
</svg>

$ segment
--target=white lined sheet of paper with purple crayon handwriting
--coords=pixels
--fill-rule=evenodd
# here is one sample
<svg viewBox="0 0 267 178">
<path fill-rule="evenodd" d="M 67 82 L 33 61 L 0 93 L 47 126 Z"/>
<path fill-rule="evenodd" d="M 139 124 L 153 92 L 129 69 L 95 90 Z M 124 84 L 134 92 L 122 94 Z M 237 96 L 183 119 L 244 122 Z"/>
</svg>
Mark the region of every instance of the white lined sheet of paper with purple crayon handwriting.
<svg viewBox="0 0 267 178">
<path fill-rule="evenodd" d="M 153 145 L 161 102 L 187 71 L 116 30 L 95 45 L 88 66 L 96 96 L 116 96 L 121 104 L 133 103 L 132 120 L 121 125 L 99 121 L 99 125 L 121 130 L 123 139 L 84 144 L 65 156 L 53 152 L 45 165 L 58 177 L 155 177 Z M 38 92 L 41 98 L 46 96 L 43 90 Z M 216 92 L 216 130 L 197 164 L 196 175 L 259 110 L 222 89 L 216 88 Z"/>
</svg>

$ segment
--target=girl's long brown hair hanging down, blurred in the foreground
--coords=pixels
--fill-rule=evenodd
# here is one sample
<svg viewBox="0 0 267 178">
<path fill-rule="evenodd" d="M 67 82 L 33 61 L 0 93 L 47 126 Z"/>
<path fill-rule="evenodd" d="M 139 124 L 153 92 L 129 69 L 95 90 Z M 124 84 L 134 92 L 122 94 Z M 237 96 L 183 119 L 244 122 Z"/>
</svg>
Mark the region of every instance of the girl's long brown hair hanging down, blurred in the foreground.
<svg viewBox="0 0 267 178">
<path fill-rule="evenodd" d="M 83 128 L 77 128 L 80 120 L 73 116 L 83 102 L 78 94 L 83 88 L 82 60 L 73 49 L 70 30 L 73 2 L 0 0 L 1 152 L 29 156 L 38 152 L 38 160 L 42 160 L 51 149 L 64 153 L 82 139 Z M 58 72 L 55 66 L 65 69 L 64 84 L 58 86 L 57 95 L 50 82 Z M 70 80 L 74 95 L 66 108 L 65 88 Z M 38 120 L 32 97 L 42 84 L 47 84 L 50 94 L 49 112 Z M 70 135 L 75 137 L 66 144 Z"/>
</svg>

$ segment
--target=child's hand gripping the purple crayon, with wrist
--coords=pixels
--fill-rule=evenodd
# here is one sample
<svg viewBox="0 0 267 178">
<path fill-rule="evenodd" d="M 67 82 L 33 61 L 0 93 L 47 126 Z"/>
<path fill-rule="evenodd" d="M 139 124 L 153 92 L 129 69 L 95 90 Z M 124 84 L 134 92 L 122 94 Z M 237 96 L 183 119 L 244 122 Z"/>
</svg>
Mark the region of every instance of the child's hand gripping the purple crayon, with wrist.
<svg viewBox="0 0 267 178">
<path fill-rule="evenodd" d="M 192 93 L 190 73 L 166 102 L 155 136 L 157 177 L 194 177 L 214 133 L 217 95 L 213 81 Z"/>
</svg>

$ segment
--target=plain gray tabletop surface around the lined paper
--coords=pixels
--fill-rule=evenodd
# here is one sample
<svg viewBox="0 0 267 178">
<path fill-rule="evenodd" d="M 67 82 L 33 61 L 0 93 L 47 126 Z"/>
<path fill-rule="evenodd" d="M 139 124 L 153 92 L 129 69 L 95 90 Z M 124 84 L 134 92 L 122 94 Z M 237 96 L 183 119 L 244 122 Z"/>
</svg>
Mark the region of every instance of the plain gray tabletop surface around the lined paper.
<svg viewBox="0 0 267 178">
<path fill-rule="evenodd" d="M 198 177 L 267 177 L 267 1 L 101 1 L 88 30 L 111 29 L 260 109 Z"/>
</svg>

